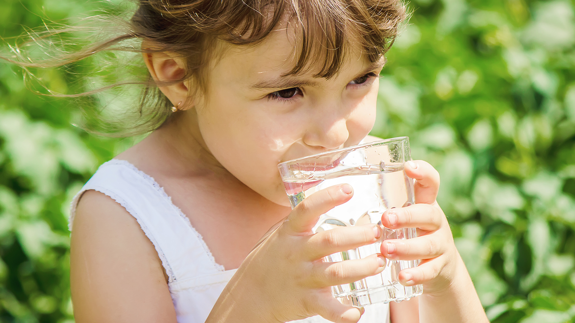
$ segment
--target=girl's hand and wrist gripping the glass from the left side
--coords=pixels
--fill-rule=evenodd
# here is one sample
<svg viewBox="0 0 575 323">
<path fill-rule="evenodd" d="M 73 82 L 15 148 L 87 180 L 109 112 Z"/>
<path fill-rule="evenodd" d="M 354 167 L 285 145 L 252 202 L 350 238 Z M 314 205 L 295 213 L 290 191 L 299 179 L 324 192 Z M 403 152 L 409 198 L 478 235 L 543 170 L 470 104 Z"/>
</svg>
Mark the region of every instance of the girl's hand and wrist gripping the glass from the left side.
<svg viewBox="0 0 575 323">
<path fill-rule="evenodd" d="M 317 191 L 246 257 L 206 322 L 287 322 L 320 315 L 333 322 L 357 322 L 363 309 L 343 305 L 330 286 L 356 282 L 385 268 L 381 254 L 328 263 L 335 252 L 375 243 L 378 225 L 346 226 L 312 233 L 319 216 L 349 201 L 340 184 Z"/>
</svg>

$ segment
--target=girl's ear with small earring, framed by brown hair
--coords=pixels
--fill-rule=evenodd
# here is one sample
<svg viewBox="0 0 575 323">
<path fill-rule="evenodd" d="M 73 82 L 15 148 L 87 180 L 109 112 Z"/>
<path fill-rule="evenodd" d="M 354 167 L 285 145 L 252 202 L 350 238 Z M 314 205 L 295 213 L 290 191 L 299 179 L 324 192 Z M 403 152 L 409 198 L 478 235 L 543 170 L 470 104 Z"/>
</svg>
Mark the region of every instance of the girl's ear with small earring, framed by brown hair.
<svg viewBox="0 0 575 323">
<path fill-rule="evenodd" d="M 172 82 L 185 75 L 183 59 L 164 52 L 144 53 L 144 63 L 156 82 Z M 193 106 L 189 101 L 188 87 L 185 82 L 159 86 L 160 91 L 172 102 L 178 105 L 178 110 L 187 110 Z"/>
</svg>

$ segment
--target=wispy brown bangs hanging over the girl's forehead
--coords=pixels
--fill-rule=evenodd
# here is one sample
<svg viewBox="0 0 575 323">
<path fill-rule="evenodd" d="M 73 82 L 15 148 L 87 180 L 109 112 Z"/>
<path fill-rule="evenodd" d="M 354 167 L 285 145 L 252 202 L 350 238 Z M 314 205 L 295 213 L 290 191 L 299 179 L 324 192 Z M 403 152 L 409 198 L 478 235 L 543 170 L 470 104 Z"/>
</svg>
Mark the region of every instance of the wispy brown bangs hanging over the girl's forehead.
<svg viewBox="0 0 575 323">
<path fill-rule="evenodd" d="M 314 76 L 329 79 L 357 49 L 370 63 L 382 59 L 393 44 L 405 10 L 401 5 L 390 6 L 386 1 L 373 1 L 367 5 L 366 2 L 370 1 L 290 1 L 287 9 L 299 31 L 296 40 L 299 52 L 296 53 L 296 66 L 287 75 L 318 68 Z M 376 14 L 382 12 L 386 14 Z M 389 16 L 395 19 L 390 20 Z"/>
</svg>

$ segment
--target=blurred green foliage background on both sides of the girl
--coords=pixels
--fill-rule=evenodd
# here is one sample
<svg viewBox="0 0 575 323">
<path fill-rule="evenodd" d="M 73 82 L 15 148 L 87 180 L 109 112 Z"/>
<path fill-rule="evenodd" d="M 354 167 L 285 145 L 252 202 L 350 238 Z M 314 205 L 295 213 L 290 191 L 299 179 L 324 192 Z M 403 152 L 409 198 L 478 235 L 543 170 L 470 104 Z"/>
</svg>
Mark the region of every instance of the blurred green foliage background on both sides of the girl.
<svg viewBox="0 0 575 323">
<path fill-rule="evenodd" d="M 2 0 L 0 36 L 115 5 Z M 372 133 L 411 137 L 412 157 L 439 170 L 440 205 L 492 322 L 575 322 L 573 1 L 409 6 Z M 75 86 L 70 73 L 40 76 Z M 72 126 L 75 104 L 34 95 L 0 63 L 0 322 L 73 320 L 67 208 L 132 143 Z"/>
</svg>

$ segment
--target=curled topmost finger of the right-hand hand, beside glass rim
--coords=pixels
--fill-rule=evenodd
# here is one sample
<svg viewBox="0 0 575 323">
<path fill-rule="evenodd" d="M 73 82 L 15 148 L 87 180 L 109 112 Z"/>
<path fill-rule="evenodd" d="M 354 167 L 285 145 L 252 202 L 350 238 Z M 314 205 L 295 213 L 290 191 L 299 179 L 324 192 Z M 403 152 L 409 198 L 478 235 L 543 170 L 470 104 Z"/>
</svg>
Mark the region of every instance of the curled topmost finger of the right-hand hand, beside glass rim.
<svg viewBox="0 0 575 323">
<path fill-rule="evenodd" d="M 439 173 L 427 161 L 409 160 L 405 163 L 405 174 L 416 180 L 415 203 L 432 204 L 439 191 Z"/>
</svg>

